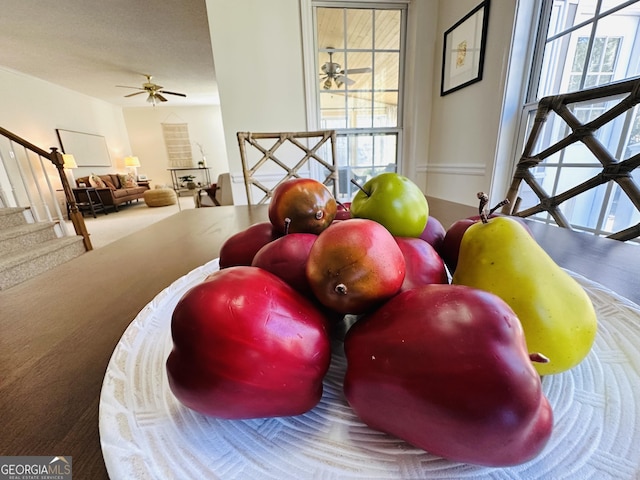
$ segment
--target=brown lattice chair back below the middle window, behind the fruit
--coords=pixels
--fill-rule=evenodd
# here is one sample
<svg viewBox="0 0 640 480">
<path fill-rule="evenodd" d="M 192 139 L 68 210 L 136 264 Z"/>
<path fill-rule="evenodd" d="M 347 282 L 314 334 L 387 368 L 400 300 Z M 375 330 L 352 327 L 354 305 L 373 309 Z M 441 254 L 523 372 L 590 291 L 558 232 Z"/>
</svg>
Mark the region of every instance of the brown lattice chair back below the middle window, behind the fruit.
<svg viewBox="0 0 640 480">
<path fill-rule="evenodd" d="M 249 204 L 268 203 L 275 188 L 291 178 L 315 178 L 337 198 L 335 130 L 238 132 L 237 136 Z"/>
</svg>

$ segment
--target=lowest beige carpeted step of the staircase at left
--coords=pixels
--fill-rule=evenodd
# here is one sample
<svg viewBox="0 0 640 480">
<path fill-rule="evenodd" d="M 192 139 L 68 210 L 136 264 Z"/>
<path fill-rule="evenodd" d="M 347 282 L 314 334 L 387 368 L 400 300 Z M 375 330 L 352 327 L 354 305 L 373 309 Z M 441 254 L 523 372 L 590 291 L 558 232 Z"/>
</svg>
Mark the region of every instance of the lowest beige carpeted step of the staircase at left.
<svg viewBox="0 0 640 480">
<path fill-rule="evenodd" d="M 48 240 L 0 259 L 0 290 L 22 283 L 85 252 L 81 236 Z"/>
</svg>

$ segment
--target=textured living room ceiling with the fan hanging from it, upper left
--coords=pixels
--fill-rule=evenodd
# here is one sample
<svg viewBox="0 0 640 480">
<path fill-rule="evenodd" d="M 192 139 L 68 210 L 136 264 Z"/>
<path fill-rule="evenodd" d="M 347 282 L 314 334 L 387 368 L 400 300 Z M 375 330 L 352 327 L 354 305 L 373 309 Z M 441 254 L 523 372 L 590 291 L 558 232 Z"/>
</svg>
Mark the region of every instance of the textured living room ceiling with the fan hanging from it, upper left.
<svg viewBox="0 0 640 480">
<path fill-rule="evenodd" d="M 218 98 L 204 0 L 2 0 L 0 67 L 125 107 L 144 74 L 187 95 L 166 105 Z"/>
</svg>

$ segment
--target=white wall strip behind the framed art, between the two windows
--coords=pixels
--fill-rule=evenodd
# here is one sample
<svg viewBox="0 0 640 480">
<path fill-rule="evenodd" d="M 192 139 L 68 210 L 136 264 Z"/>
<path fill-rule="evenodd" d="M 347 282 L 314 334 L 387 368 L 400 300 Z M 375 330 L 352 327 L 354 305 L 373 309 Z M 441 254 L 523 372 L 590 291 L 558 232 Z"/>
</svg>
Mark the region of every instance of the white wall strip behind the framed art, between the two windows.
<svg viewBox="0 0 640 480">
<path fill-rule="evenodd" d="M 444 32 L 479 2 L 441 0 L 438 3 L 436 51 L 442 52 Z M 436 55 L 434 73 L 438 74 L 438 80 L 432 86 L 432 127 L 429 161 L 425 170 L 428 195 L 476 205 L 477 192 L 484 191 L 490 193 L 492 204 L 502 200 L 497 197 L 503 194 L 505 188 L 497 183 L 505 179 L 497 176 L 498 182 L 493 185 L 494 165 L 501 133 L 500 120 L 516 3 L 512 0 L 492 0 L 484 73 L 480 82 L 440 97 L 442 54 Z M 511 121 L 517 122 L 517 119 Z M 503 163 L 500 165 L 505 168 Z"/>
</svg>

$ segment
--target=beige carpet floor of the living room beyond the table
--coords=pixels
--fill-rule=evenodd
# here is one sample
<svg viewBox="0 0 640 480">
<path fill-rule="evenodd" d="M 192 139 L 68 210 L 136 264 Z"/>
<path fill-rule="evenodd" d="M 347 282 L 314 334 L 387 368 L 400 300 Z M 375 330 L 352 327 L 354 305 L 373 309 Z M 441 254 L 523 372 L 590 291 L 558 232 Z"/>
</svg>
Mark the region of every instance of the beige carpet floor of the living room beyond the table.
<svg viewBox="0 0 640 480">
<path fill-rule="evenodd" d="M 148 207 L 142 200 L 133 202 L 131 205 L 118 207 L 117 212 L 109 209 L 108 214 L 96 214 L 93 218 L 91 214 L 85 213 L 84 222 L 89 231 L 93 248 L 100 248 L 109 243 L 126 237 L 149 225 L 159 222 L 171 215 L 175 215 L 182 210 L 195 208 L 192 197 L 180 197 L 180 207 L 178 204 L 166 207 Z M 73 225 L 67 221 L 69 231 L 73 232 Z"/>
</svg>

